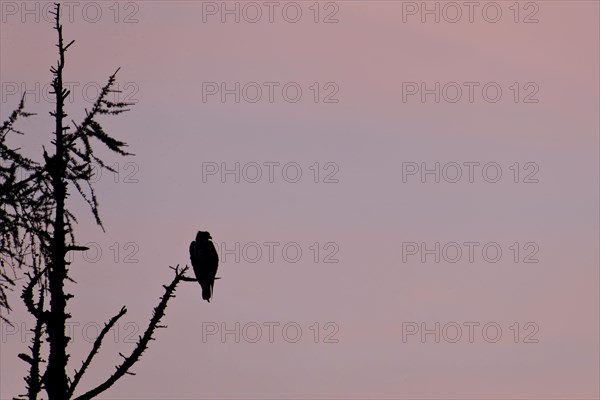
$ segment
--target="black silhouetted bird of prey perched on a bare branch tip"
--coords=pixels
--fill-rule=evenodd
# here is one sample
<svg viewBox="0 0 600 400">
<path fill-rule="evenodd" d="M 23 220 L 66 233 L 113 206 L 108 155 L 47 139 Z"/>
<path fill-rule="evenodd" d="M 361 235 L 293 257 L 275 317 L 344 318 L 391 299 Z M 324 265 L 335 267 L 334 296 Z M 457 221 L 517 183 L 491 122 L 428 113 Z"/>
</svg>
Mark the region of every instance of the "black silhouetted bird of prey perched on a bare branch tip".
<svg viewBox="0 0 600 400">
<path fill-rule="evenodd" d="M 190 259 L 196 279 L 202 286 L 202 298 L 210 303 L 219 268 L 219 255 L 211 241 L 210 233 L 198 231 L 196 240 L 190 243 Z"/>
</svg>

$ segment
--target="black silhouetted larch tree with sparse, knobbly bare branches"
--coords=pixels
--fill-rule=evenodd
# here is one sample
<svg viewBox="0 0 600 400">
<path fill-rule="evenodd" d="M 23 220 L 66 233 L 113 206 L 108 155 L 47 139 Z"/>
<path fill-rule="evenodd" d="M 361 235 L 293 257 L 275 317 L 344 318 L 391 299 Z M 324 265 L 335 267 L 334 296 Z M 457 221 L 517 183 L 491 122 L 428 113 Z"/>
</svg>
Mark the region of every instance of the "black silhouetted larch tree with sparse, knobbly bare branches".
<svg viewBox="0 0 600 400">
<path fill-rule="evenodd" d="M 0 126 L 0 312 L 10 311 L 7 292 L 15 285 L 15 276 L 22 272 L 27 283 L 21 298 L 36 322 L 28 354 L 19 354 L 19 358 L 29 364 L 29 373 L 25 377 L 27 394 L 22 396 L 30 400 L 37 399 L 43 390 L 50 400 L 92 399 L 126 374 L 133 374 L 130 371 L 132 366 L 153 340 L 156 329 L 164 327 L 161 319 L 177 285 L 181 281 L 194 281 L 185 276 L 187 266 L 172 268 L 173 280 L 163 286 L 165 292 L 131 353 L 127 356 L 120 354 L 123 361 L 112 375 L 76 395 L 81 378 L 100 350 L 105 335 L 127 309 L 121 308 L 105 324 L 80 368 L 70 376 L 67 371 L 70 337 L 66 324 L 71 318 L 67 303 L 73 295 L 65 288 L 65 283 L 71 281 L 67 255 L 87 248 L 76 245 L 76 218 L 65 200 L 70 191 L 78 192 L 89 205 L 98 226 L 104 229 L 92 184 L 93 167 L 112 169 L 96 155 L 95 150 L 103 146 L 119 156 L 130 153 L 126 151 L 125 142 L 104 131 L 99 119 L 126 112 L 132 104 L 108 100 L 109 94 L 115 92 L 117 70 L 109 77 L 91 109 L 86 110 L 83 121 L 71 121 L 70 124 L 65 121 L 65 99 L 69 96 L 63 84 L 65 54 L 74 41 L 64 44 L 60 11 L 60 4 L 56 4 L 53 15 L 54 29 L 58 34 L 58 62 L 50 69 L 56 98 L 55 108 L 50 112 L 55 121 L 50 147 L 52 154 L 44 148 L 43 160 L 37 162 L 7 144 L 6 139 L 10 135 L 23 134 L 15 128 L 18 120 L 32 115 L 24 111 L 24 98 Z M 19 174 L 19 170 L 27 173 Z M 9 323 L 5 316 L 0 315 L 0 318 Z M 47 360 L 44 359 L 46 354 Z"/>
</svg>

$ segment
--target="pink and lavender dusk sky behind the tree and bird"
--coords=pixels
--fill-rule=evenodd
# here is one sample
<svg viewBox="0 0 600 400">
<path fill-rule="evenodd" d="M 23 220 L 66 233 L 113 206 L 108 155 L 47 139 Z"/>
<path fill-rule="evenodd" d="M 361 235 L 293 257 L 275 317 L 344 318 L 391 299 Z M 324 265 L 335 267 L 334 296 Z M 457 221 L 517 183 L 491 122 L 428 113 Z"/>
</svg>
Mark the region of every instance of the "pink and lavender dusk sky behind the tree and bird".
<svg viewBox="0 0 600 400">
<path fill-rule="evenodd" d="M 171 278 L 168 266 L 189 263 L 188 244 L 202 229 L 218 245 L 239 243 L 239 262 L 221 255 L 223 279 L 210 304 L 199 286 L 182 285 L 167 309 L 169 327 L 157 333 L 134 368 L 137 375 L 102 398 L 600 396 L 598 2 L 520 2 L 516 23 L 512 1 L 495 3 L 502 11 L 496 23 L 482 15 L 489 2 L 478 2 L 473 22 L 462 6 L 456 23 L 444 20 L 454 16 L 446 2 L 437 3 L 446 11 L 439 23 L 432 15 L 421 22 L 422 2 L 320 2 L 318 23 L 312 1 L 297 2 L 297 23 L 282 17 L 286 2 L 277 3 L 273 23 L 264 6 L 256 23 L 234 23 L 233 16 L 222 23 L 218 13 L 203 14 L 222 2 L 201 1 L 97 2 L 102 14 L 93 23 L 96 6 L 75 3 L 73 21 L 64 21 L 66 40 L 76 40 L 65 70 L 66 81 L 78 85 L 70 117 L 81 118 L 93 88 L 118 67 L 122 95 L 137 101 L 131 112 L 104 124 L 136 154 L 111 158 L 119 163 L 117 182 L 105 171 L 97 184 L 106 233 L 80 199 L 71 199 L 80 216 L 78 240 L 96 243 L 102 255 L 97 262 L 77 256 L 71 267 L 78 284 L 69 285 L 76 295 L 69 304 L 78 325 L 70 371 L 91 348 L 93 327 L 122 305 L 129 309 L 80 389 L 100 383 L 119 363 L 118 352 L 132 348 L 128 342 L 144 329 Z M 21 2 L 0 4 L 2 120 L 16 107 L 21 85 L 35 91 L 36 82 L 50 81 L 56 60 L 55 32 L 41 15 L 45 3 L 28 4 L 32 14 L 21 14 Z M 403 21 L 403 10 L 415 4 L 417 14 L 404 14 Z M 427 2 L 432 9 L 435 4 Z M 486 18 L 493 18 L 494 9 L 486 7 Z M 337 23 L 323 23 L 330 13 Z M 266 91 L 256 103 L 235 103 L 233 95 L 222 103 L 219 96 L 203 102 L 203 82 L 280 86 L 273 103 Z M 288 82 L 302 88 L 300 101 L 282 98 Z M 338 102 L 315 103 L 314 82 L 321 99 L 338 88 Z M 423 103 L 418 95 L 403 101 L 406 82 L 480 86 L 472 103 L 466 91 L 456 103 L 435 103 L 433 95 Z M 489 82 L 502 88 L 496 103 L 482 97 Z M 515 82 L 517 103 L 510 89 Z M 531 99 L 538 101 L 523 102 L 533 89 Z M 49 141 L 50 107 L 41 93 L 28 94 L 27 109 L 38 115 L 21 123 L 28 135 L 18 145 L 38 157 Z M 295 162 L 302 178 L 289 183 L 279 167 L 270 183 L 263 167 L 257 183 L 243 176 L 236 183 L 232 175 L 225 183 L 220 175 L 203 181 L 206 163 L 233 168 L 236 162 L 252 176 L 248 163 Z M 310 169 L 315 162 L 318 183 Z M 422 183 L 418 175 L 403 182 L 408 162 L 480 167 L 473 183 L 466 175 L 457 183 L 435 183 L 431 176 Z M 497 183 L 482 178 L 481 165 L 490 162 L 501 167 Z M 519 183 L 509 168 L 515 162 Z M 525 169 L 528 162 L 539 168 L 538 183 L 523 182 L 532 171 Z M 335 166 L 338 182 L 324 183 Z M 265 242 L 280 243 L 273 262 Z M 503 253 L 496 263 L 483 259 L 481 247 L 473 263 L 466 254 L 456 263 L 436 263 L 433 256 L 423 263 L 419 255 L 403 262 L 407 242 L 428 248 L 495 242 Z M 518 263 L 509 249 L 515 242 Z M 524 248 L 529 242 L 537 245 L 538 263 L 522 262 L 535 248 Z M 250 262 L 252 243 L 263 250 L 257 262 Z M 281 252 L 294 243 L 302 249 L 295 263 Z M 333 249 L 339 262 L 325 263 Z M 125 262 L 131 260 L 139 262 Z M 24 392 L 25 363 L 16 354 L 25 351 L 22 337 L 33 325 L 18 294 L 10 314 L 16 331 L 3 324 L 0 332 L 2 399 Z M 207 323 L 234 329 L 238 322 L 262 326 L 263 336 L 256 343 L 247 337 L 235 343 L 233 334 L 202 340 Z M 268 322 L 280 324 L 273 343 Z M 325 329 L 328 322 L 333 325 Z M 480 324 L 473 343 L 468 322 Z M 301 327 L 298 342 L 283 337 L 286 323 Z M 448 337 L 435 343 L 433 335 L 424 343 L 419 335 L 403 341 L 407 323 L 428 329 L 440 323 L 451 337 L 455 323 L 463 336 L 456 343 Z M 482 335 L 487 323 L 502 328 L 496 343 Z M 84 326 L 92 328 L 84 334 Z M 331 327 L 339 328 L 329 337 L 338 342 L 324 343 Z M 537 343 L 525 343 L 534 327 L 529 339 Z"/>
</svg>

